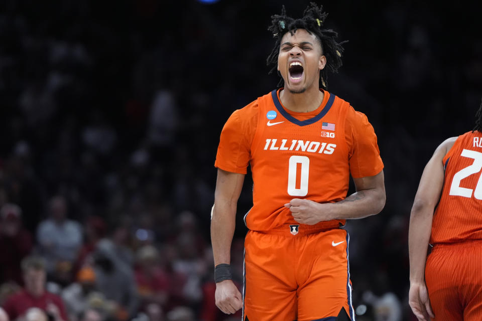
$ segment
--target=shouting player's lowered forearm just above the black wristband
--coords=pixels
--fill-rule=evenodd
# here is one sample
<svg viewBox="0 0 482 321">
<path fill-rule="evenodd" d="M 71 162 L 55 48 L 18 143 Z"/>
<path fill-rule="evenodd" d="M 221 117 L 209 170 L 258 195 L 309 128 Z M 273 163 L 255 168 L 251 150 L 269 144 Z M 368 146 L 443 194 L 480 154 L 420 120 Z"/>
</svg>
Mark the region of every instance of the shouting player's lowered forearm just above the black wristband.
<svg viewBox="0 0 482 321">
<path fill-rule="evenodd" d="M 211 218 L 211 244 L 214 265 L 230 263 L 231 242 L 234 235 L 236 204 L 215 201 Z"/>
</svg>

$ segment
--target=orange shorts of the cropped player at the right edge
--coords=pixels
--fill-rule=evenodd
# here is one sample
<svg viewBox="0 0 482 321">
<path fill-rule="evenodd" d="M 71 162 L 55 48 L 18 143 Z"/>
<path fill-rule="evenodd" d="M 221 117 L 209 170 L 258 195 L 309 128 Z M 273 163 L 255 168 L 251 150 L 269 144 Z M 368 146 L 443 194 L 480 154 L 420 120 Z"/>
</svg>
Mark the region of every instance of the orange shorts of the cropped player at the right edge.
<svg viewBox="0 0 482 321">
<path fill-rule="evenodd" d="M 482 320 L 481 266 L 482 240 L 434 246 L 425 265 L 432 320 Z"/>
</svg>

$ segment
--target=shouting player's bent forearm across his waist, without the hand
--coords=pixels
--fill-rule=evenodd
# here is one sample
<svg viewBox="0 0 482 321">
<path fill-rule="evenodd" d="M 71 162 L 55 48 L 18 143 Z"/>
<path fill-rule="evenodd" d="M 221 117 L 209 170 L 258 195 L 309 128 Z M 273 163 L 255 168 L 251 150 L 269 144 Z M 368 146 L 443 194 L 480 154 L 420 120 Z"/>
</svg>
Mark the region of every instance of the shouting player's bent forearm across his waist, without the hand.
<svg viewBox="0 0 482 321">
<path fill-rule="evenodd" d="M 360 219 L 380 213 L 385 206 L 384 189 L 367 189 L 331 204 L 334 219 Z"/>
</svg>

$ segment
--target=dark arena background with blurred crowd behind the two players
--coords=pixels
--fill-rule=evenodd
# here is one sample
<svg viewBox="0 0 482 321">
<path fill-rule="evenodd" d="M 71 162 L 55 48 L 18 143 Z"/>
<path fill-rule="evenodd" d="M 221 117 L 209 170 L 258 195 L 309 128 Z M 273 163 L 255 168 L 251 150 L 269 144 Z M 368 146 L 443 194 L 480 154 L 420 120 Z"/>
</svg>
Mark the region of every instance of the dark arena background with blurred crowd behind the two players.
<svg viewBox="0 0 482 321">
<path fill-rule="evenodd" d="M 410 209 L 438 144 L 473 128 L 480 8 L 318 3 L 349 41 L 328 90 L 367 114 L 385 164 L 385 209 L 346 226 L 357 319 L 415 320 Z M 308 2 L 285 5 L 298 17 Z M 281 6 L 0 1 L 1 305 L 35 255 L 70 321 L 240 320 L 214 305 L 213 165 L 231 112 L 278 83 L 267 28 Z M 239 286 L 251 190 L 248 175 L 232 244 Z"/>
</svg>

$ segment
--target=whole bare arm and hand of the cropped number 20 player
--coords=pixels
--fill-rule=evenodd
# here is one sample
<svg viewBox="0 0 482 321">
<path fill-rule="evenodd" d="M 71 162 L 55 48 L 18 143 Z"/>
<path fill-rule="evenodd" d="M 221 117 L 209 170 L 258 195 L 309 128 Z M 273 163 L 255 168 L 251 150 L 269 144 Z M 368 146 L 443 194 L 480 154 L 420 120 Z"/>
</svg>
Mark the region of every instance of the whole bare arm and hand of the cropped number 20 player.
<svg viewBox="0 0 482 321">
<path fill-rule="evenodd" d="M 409 304 L 420 321 L 428 321 L 430 320 L 429 316 L 433 317 L 425 285 L 425 261 L 432 229 L 433 212 L 440 199 L 443 187 L 444 168 L 442 160 L 455 139 L 456 137 L 452 137 L 440 144 L 425 166 L 410 215 Z"/>
</svg>

